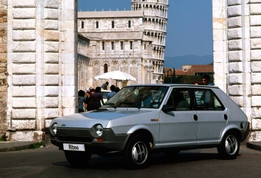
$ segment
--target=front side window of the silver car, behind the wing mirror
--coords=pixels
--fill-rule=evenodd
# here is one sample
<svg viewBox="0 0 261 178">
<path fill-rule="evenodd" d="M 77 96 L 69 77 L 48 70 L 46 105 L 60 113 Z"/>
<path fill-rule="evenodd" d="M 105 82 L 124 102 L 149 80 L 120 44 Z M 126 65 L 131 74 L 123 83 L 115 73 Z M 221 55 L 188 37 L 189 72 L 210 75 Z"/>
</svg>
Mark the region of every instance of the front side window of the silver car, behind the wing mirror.
<svg viewBox="0 0 261 178">
<path fill-rule="evenodd" d="M 189 89 L 186 88 L 174 88 L 167 101 L 167 105 L 172 106 L 176 111 L 191 110 L 190 103 Z"/>
</svg>

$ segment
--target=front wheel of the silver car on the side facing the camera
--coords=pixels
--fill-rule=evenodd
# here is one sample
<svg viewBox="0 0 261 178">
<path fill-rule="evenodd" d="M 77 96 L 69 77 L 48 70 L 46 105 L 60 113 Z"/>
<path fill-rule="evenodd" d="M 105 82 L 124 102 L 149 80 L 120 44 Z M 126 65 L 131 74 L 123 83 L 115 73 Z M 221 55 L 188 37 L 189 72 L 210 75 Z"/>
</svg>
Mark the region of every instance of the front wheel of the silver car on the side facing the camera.
<svg viewBox="0 0 261 178">
<path fill-rule="evenodd" d="M 126 168 L 142 169 L 149 166 L 150 147 L 148 141 L 140 135 L 130 138 L 124 152 Z"/>
</svg>

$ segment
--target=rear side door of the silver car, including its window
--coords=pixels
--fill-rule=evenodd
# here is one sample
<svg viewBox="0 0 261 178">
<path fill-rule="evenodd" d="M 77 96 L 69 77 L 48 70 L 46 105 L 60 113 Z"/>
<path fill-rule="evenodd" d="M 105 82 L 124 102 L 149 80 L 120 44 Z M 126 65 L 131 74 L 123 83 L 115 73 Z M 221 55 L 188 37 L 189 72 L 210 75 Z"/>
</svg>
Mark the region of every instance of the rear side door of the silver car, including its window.
<svg viewBox="0 0 261 178">
<path fill-rule="evenodd" d="M 198 145 L 216 144 L 227 124 L 228 109 L 211 89 L 194 88 L 195 110 L 198 115 Z M 198 94 L 201 93 L 201 97 Z M 200 99 L 200 100 L 199 100 Z"/>
</svg>

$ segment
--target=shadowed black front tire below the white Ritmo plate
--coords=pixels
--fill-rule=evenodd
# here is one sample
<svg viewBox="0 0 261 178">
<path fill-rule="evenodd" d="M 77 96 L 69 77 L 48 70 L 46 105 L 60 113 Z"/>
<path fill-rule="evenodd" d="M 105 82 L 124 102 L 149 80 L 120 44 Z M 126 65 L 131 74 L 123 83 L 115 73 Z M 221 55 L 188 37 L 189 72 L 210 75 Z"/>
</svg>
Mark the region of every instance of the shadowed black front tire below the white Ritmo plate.
<svg viewBox="0 0 261 178">
<path fill-rule="evenodd" d="M 64 151 L 67 161 L 74 167 L 84 167 L 92 154 L 86 151 Z"/>
</svg>

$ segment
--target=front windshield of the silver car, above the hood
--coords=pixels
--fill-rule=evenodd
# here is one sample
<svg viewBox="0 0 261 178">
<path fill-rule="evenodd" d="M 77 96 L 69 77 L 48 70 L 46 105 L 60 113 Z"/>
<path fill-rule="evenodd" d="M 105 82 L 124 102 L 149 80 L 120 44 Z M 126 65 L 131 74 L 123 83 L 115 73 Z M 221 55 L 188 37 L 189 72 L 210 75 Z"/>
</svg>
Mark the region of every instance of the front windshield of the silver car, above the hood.
<svg viewBox="0 0 261 178">
<path fill-rule="evenodd" d="M 168 90 L 167 86 L 129 86 L 122 88 L 102 108 L 158 109 Z"/>
</svg>

